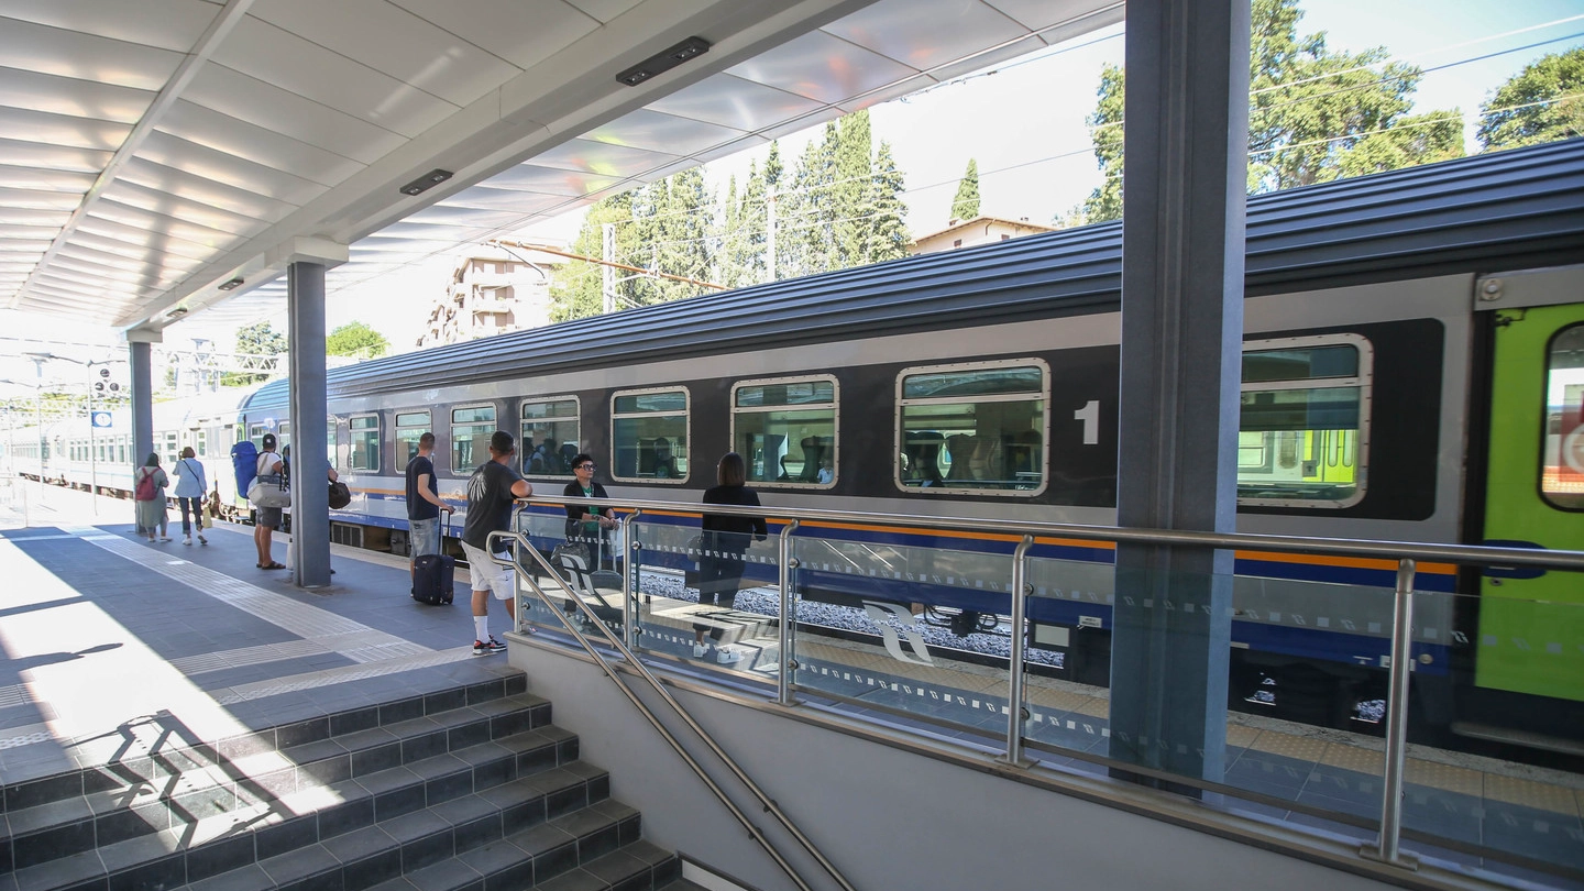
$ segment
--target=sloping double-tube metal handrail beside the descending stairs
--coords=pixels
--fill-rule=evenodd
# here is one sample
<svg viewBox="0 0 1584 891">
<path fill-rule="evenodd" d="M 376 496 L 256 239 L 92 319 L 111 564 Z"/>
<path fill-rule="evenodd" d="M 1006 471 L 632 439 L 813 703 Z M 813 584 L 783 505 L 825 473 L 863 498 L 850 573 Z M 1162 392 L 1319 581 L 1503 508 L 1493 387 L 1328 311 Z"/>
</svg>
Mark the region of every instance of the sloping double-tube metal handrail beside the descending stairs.
<svg viewBox="0 0 1584 891">
<path fill-rule="evenodd" d="M 838 870 L 835 864 L 825 859 L 825 855 L 822 855 L 814 847 L 814 842 L 811 842 L 808 836 L 805 836 L 803 831 L 798 829 L 795 823 L 792 823 L 792 820 L 781 810 L 781 807 L 768 794 L 765 794 L 762 788 L 759 788 L 759 783 L 756 783 L 743 771 L 743 767 L 730 755 L 727 755 L 719 744 L 714 742 L 714 737 L 711 737 L 710 732 L 703 726 L 700 726 L 699 721 L 695 721 L 692 715 L 687 713 L 686 709 L 683 709 L 681 702 L 678 702 L 676 698 L 672 696 L 670 691 L 667 691 L 665 686 L 661 683 L 661 679 L 654 677 L 654 674 L 648 669 L 648 666 L 638 661 L 638 656 L 634 655 L 634 652 L 627 648 L 626 644 L 618 641 L 615 634 L 605 631 L 605 623 L 600 621 L 599 615 L 596 615 L 594 610 L 589 609 L 586 602 L 583 602 L 583 596 L 577 593 L 570 587 L 570 583 L 561 577 L 559 572 L 556 572 L 554 566 L 551 566 L 550 561 L 545 558 L 545 555 L 540 553 L 539 549 L 535 549 L 531 541 L 527 541 L 527 536 L 524 533 L 508 533 L 508 531 L 489 533 L 488 541 L 485 544 L 491 560 L 494 560 L 502 566 L 516 568 L 518 566 L 516 556 L 501 560 L 494 555 L 493 544 L 496 541 L 512 541 L 518 553 L 526 550 L 527 553 L 534 555 L 534 561 L 539 563 L 542 569 L 545 569 L 545 574 L 554 579 L 556 583 L 562 588 L 562 591 L 569 595 L 567 599 L 577 604 L 578 610 L 583 612 L 588 621 L 591 621 L 596 628 L 602 629 L 605 641 L 608 641 L 616 648 L 616 652 L 621 653 L 621 656 L 635 672 L 638 672 L 638 675 L 642 675 L 646 682 L 649 682 L 649 685 L 661 696 L 661 699 L 664 699 L 665 704 L 670 706 L 673 712 L 676 712 L 676 715 L 687 725 L 687 728 L 694 731 L 699 740 L 703 742 L 706 747 L 710 747 L 710 751 L 713 751 L 714 756 L 719 758 L 722 764 L 725 764 L 725 767 L 732 772 L 732 775 L 737 777 L 737 780 L 743 783 L 743 786 L 748 788 L 748 791 L 752 793 L 756 799 L 759 799 L 760 807 L 763 807 L 767 813 L 775 816 L 776 821 L 781 823 L 781 826 L 792 834 L 792 837 L 798 842 L 803 851 L 808 853 L 811 858 L 814 858 L 814 861 L 819 862 L 819 866 L 836 881 L 836 885 L 840 885 L 844 891 L 857 891 L 852 886 L 852 883 L 847 881 L 847 878 L 841 874 L 841 870 Z M 792 864 L 786 861 L 781 851 L 776 850 L 776 847 L 770 842 L 770 839 L 763 834 L 763 831 L 759 826 L 756 826 L 748 818 L 746 813 L 743 813 L 743 810 L 737 805 L 737 802 L 733 802 L 730 796 L 725 794 L 725 790 L 722 790 L 710 777 L 710 774 L 703 769 L 703 766 L 699 764 L 699 761 L 686 748 L 683 748 L 683 744 L 670 732 L 670 729 L 665 728 L 665 725 L 661 723 L 654 710 L 645 706 L 643 701 L 638 699 L 638 696 L 626 683 L 623 683 L 621 675 L 616 672 L 616 667 L 610 664 L 610 661 L 605 660 L 605 656 L 600 655 L 600 652 L 594 647 L 594 644 L 588 639 L 588 636 L 584 636 L 581 631 L 577 629 L 577 626 L 573 626 L 570 615 L 565 615 L 561 610 L 558 610 L 550 602 L 550 598 L 545 595 L 545 591 L 539 587 L 537 582 L 529 582 L 523 572 L 518 572 L 516 576 L 518 579 L 523 579 L 529 588 L 532 588 L 532 591 L 545 604 L 545 609 L 551 615 L 561 620 L 561 625 L 565 626 L 567 633 L 572 634 L 578 641 L 578 644 L 583 645 L 583 650 L 588 652 L 588 655 L 600 666 L 600 669 L 604 669 L 605 674 L 613 682 L 616 682 L 616 686 L 621 688 L 621 691 L 627 696 L 627 701 L 630 701 L 638 709 L 638 712 L 642 712 L 643 717 L 648 718 L 649 725 L 656 731 L 659 731 L 659 734 L 665 739 L 665 742 L 670 744 L 672 750 L 676 751 L 676 755 L 687 763 L 692 772 L 705 783 L 705 786 L 710 788 L 711 793 L 714 793 L 714 796 L 721 801 L 721 804 L 724 804 L 727 810 L 732 812 L 732 815 L 738 820 L 738 823 L 741 823 L 743 828 L 748 829 L 748 834 L 752 836 L 754 840 L 757 840 L 762 848 L 765 848 L 765 853 L 768 853 L 776 861 L 776 864 L 781 866 L 781 869 L 787 874 L 787 877 L 794 883 L 797 883 L 797 886 L 802 888 L 803 891 L 813 891 L 813 888 L 806 881 L 803 881 L 803 877 L 797 874 Z M 626 606 L 623 606 L 623 615 L 626 615 Z"/>
</svg>

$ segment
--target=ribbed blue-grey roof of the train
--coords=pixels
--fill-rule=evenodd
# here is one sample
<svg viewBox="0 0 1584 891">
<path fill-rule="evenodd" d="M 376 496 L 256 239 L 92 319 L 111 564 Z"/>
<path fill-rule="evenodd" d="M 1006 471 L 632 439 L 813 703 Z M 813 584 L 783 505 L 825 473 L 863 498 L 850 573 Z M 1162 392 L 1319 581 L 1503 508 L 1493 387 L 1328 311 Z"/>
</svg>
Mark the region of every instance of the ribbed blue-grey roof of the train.
<svg viewBox="0 0 1584 891">
<path fill-rule="evenodd" d="M 1584 138 L 1248 200 L 1247 293 L 1584 262 Z M 993 300 L 987 300 L 993 295 Z M 1115 308 L 1121 224 L 1031 235 L 337 368 L 361 395 Z M 285 380 L 257 404 L 285 403 Z"/>
</svg>

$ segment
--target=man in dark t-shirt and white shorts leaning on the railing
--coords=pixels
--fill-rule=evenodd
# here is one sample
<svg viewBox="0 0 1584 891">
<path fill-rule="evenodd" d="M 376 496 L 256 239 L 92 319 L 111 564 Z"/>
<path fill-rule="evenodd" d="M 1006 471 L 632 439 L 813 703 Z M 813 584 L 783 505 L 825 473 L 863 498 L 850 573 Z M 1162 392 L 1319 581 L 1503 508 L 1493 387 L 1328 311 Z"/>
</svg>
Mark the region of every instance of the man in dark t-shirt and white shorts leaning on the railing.
<svg viewBox="0 0 1584 891">
<path fill-rule="evenodd" d="M 489 533 L 504 533 L 512 528 L 512 504 L 518 498 L 534 495 L 534 487 L 518 476 L 512 466 L 512 455 L 516 453 L 516 441 L 504 430 L 494 431 L 489 438 L 489 460 L 467 477 L 467 517 L 463 520 L 463 553 L 467 555 L 467 568 L 474 587 L 474 655 L 486 656 L 505 650 L 505 644 L 489 634 L 489 593 L 496 599 L 505 601 L 505 612 L 513 620 L 516 607 L 516 579 L 512 569 L 501 566 L 486 552 Z M 510 553 L 504 542 L 499 542 L 497 553 Z"/>
</svg>

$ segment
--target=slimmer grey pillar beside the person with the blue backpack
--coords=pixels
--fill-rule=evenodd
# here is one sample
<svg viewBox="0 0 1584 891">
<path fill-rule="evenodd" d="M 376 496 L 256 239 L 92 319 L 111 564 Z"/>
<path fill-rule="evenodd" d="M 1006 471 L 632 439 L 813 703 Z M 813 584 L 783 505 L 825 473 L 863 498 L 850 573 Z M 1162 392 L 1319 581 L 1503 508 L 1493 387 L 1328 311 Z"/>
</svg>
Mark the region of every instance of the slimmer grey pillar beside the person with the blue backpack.
<svg viewBox="0 0 1584 891">
<path fill-rule="evenodd" d="M 291 576 L 304 588 L 329 585 L 329 493 L 325 468 L 325 265 L 287 268 L 291 346 Z"/>
</svg>

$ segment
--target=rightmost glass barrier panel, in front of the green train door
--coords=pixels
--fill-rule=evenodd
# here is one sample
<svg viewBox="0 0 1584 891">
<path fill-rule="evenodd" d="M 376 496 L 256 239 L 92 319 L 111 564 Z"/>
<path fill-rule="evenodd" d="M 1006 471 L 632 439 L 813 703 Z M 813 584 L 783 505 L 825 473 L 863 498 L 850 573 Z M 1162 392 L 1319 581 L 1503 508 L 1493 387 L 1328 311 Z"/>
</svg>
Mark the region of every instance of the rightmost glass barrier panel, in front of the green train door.
<svg viewBox="0 0 1584 891">
<path fill-rule="evenodd" d="M 1446 840 L 1487 870 L 1584 880 L 1584 579 L 1492 568 L 1479 583 L 1415 599 L 1403 850 Z M 1532 583 L 1560 596 L 1519 593 Z"/>
</svg>

